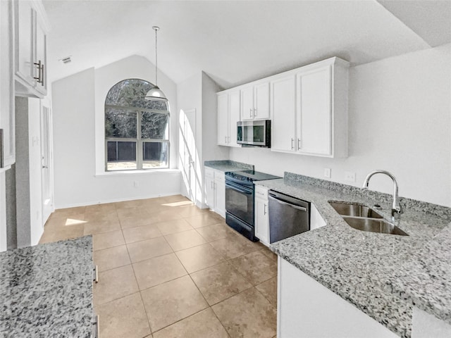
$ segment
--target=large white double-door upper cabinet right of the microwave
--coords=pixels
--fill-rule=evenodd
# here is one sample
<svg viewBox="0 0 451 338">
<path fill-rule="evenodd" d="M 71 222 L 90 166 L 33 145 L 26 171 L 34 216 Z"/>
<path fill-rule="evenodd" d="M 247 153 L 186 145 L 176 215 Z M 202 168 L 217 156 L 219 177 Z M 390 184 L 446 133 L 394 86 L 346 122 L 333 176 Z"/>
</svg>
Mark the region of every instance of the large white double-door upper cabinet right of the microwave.
<svg viewBox="0 0 451 338">
<path fill-rule="evenodd" d="M 347 156 L 348 67 L 329 58 L 271 80 L 272 151 Z"/>
</svg>

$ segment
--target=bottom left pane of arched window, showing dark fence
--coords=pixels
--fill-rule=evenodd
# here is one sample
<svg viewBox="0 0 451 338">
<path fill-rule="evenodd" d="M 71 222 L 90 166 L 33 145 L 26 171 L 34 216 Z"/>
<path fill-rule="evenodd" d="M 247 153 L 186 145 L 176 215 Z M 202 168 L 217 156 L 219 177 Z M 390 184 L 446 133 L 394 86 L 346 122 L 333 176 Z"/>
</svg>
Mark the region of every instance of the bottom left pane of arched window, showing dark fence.
<svg viewBox="0 0 451 338">
<path fill-rule="evenodd" d="M 136 142 L 106 142 L 107 170 L 136 169 Z"/>
</svg>

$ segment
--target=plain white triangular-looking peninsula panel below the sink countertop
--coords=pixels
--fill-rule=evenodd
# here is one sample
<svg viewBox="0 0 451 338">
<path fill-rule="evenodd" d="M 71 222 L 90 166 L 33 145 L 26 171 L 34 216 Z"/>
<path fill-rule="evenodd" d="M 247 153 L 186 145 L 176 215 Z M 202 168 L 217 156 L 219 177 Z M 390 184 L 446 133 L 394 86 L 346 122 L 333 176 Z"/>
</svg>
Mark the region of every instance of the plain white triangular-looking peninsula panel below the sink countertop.
<svg viewBox="0 0 451 338">
<path fill-rule="evenodd" d="M 277 337 L 399 338 L 280 256 L 277 305 Z"/>
</svg>

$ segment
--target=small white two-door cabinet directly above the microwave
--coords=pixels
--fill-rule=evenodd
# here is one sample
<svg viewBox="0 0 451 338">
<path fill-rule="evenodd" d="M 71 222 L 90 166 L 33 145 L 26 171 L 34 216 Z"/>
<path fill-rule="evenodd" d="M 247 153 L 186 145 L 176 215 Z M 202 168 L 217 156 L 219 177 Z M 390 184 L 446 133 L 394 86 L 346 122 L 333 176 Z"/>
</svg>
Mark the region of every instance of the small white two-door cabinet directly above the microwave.
<svg viewBox="0 0 451 338">
<path fill-rule="evenodd" d="M 241 120 L 269 119 L 269 82 L 258 81 L 241 88 Z"/>
</svg>

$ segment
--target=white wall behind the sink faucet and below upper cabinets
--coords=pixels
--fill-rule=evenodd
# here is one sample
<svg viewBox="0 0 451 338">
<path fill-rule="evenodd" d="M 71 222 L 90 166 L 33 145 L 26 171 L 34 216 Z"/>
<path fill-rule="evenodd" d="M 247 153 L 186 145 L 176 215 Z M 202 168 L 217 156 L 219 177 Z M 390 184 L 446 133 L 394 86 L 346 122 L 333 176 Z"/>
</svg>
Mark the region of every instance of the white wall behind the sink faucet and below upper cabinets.
<svg viewBox="0 0 451 338">
<path fill-rule="evenodd" d="M 397 177 L 400 196 L 451 206 L 451 44 L 350 68 L 349 157 L 317 158 L 230 149 L 230 159 L 274 175 L 284 171 L 357 187 L 367 173 L 385 169 Z M 345 181 L 345 171 L 356 182 Z M 388 177 L 370 189 L 391 193 Z"/>
</svg>

